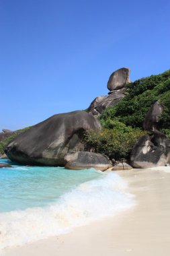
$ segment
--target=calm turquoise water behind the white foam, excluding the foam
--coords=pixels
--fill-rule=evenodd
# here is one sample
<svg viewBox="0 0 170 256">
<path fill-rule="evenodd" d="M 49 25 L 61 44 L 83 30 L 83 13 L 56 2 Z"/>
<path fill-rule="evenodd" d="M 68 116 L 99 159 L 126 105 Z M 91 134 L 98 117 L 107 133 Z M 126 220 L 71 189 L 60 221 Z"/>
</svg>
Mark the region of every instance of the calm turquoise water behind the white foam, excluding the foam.
<svg viewBox="0 0 170 256">
<path fill-rule="evenodd" d="M 12 164 L 9 160 L 0 160 Z M 77 185 L 96 179 L 101 172 L 62 167 L 18 166 L 0 168 L 0 212 L 44 207 Z"/>
</svg>

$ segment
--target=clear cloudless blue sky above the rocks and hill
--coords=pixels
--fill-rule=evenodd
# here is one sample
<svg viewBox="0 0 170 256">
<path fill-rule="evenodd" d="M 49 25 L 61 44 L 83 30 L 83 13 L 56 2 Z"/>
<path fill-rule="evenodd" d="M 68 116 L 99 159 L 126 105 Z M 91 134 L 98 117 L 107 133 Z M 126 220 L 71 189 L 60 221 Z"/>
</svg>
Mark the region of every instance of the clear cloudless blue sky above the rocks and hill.
<svg viewBox="0 0 170 256">
<path fill-rule="evenodd" d="M 0 0 L 0 130 L 81 110 L 110 74 L 170 68 L 169 0 Z"/>
</svg>

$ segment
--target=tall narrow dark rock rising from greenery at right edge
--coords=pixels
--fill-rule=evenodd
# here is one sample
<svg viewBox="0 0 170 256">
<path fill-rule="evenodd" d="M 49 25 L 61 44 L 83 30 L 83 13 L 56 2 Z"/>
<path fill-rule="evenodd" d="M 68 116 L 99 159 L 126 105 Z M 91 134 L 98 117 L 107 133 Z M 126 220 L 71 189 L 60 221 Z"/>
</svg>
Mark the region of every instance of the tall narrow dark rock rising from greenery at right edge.
<svg viewBox="0 0 170 256">
<path fill-rule="evenodd" d="M 148 110 L 144 119 L 143 128 L 146 131 L 157 131 L 157 125 L 163 113 L 163 106 L 159 102 L 155 102 Z"/>
</svg>

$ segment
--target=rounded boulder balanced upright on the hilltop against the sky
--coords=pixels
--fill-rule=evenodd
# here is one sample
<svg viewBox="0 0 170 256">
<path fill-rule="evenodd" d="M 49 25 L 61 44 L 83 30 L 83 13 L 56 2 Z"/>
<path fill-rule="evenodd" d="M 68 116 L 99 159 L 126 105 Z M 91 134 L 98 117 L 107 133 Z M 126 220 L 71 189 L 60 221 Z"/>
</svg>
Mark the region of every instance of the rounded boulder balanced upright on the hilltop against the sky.
<svg viewBox="0 0 170 256">
<path fill-rule="evenodd" d="M 108 81 L 108 90 L 113 91 L 124 88 L 124 86 L 130 82 L 129 74 L 130 69 L 126 67 L 114 71 Z"/>
</svg>

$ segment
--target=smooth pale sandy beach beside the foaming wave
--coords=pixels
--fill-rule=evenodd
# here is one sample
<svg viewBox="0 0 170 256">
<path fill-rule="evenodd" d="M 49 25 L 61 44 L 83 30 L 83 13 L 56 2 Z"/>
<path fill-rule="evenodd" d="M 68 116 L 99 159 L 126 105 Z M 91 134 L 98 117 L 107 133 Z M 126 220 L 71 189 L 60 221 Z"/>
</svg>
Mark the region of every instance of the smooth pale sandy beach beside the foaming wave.
<svg viewBox="0 0 170 256">
<path fill-rule="evenodd" d="M 170 167 L 118 172 L 136 205 L 73 232 L 22 247 L 3 256 L 169 256 Z"/>
</svg>

